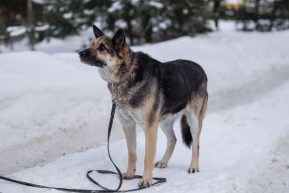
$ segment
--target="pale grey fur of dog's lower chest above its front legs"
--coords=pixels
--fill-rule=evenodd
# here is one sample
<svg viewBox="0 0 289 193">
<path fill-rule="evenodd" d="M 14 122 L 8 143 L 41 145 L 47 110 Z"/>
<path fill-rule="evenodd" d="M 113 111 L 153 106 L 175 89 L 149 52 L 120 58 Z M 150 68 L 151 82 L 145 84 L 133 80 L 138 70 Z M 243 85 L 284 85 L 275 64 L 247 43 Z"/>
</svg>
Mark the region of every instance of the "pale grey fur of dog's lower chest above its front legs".
<svg viewBox="0 0 289 193">
<path fill-rule="evenodd" d="M 132 108 L 128 103 L 117 102 L 117 114 L 122 123 L 134 121 L 137 124 L 144 124 L 143 112 L 140 108 Z"/>
</svg>

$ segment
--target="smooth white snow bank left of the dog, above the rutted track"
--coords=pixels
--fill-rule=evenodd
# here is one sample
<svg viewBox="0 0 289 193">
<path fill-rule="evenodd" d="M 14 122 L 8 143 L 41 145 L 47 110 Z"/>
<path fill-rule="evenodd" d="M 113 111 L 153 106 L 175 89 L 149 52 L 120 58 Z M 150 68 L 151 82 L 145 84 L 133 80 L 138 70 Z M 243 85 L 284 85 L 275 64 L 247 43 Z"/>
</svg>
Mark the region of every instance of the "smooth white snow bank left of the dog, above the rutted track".
<svg viewBox="0 0 289 193">
<path fill-rule="evenodd" d="M 102 108 L 109 111 L 106 83 L 96 68 L 81 64 L 76 54 L 69 56 L 77 61 L 72 64 L 58 57 L 42 52 L 0 56 L 0 148 L 87 127 L 89 119 L 102 119 L 95 118 Z"/>
</svg>

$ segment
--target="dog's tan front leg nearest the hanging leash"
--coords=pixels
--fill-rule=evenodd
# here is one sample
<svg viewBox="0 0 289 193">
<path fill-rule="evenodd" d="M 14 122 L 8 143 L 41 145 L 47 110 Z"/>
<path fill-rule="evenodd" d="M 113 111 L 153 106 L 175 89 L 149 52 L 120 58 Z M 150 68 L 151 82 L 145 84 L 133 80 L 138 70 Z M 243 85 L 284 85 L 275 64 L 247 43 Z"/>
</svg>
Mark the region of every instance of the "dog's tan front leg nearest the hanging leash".
<svg viewBox="0 0 289 193">
<path fill-rule="evenodd" d="M 137 137 L 136 137 L 136 124 L 129 123 L 123 124 L 122 129 L 126 139 L 127 151 L 128 151 L 128 163 L 126 173 L 122 174 L 123 179 L 133 179 L 136 172 L 137 162 Z"/>
</svg>

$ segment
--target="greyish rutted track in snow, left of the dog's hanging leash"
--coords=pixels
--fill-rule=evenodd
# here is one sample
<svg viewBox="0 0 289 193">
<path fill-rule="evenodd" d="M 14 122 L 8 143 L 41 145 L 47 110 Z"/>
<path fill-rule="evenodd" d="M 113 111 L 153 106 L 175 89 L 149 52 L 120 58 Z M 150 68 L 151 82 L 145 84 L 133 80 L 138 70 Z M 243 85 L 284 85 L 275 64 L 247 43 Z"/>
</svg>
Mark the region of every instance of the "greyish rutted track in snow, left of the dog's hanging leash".
<svg viewBox="0 0 289 193">
<path fill-rule="evenodd" d="M 33 137 L 25 144 L 12 145 L 8 148 L 0 148 L 0 175 L 8 175 L 36 165 L 54 161 L 65 154 L 86 151 L 91 147 L 98 147 L 106 143 L 106 125 L 97 124 L 102 119 L 109 120 L 110 98 L 105 96 L 95 103 L 92 113 L 102 112 L 95 120 L 73 129 L 57 129 L 49 135 Z M 87 101 L 85 101 L 87 102 Z M 69 111 L 76 111 L 83 103 L 75 102 Z M 90 113 L 91 113 L 90 112 Z M 54 117 L 60 116 L 54 114 Z M 122 129 L 117 129 L 118 120 L 113 126 L 115 136 L 112 141 L 122 138 Z M 60 126 L 61 127 L 61 126 Z M 116 137 L 117 136 L 117 137 Z"/>
</svg>

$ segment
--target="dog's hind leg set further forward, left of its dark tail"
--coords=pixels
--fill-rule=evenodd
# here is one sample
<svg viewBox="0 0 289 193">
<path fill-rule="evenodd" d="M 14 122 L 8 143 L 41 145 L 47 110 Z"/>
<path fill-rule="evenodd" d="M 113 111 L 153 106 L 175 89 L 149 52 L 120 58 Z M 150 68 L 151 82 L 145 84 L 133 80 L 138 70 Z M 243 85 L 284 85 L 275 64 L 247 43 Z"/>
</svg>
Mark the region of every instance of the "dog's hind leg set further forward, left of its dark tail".
<svg viewBox="0 0 289 193">
<path fill-rule="evenodd" d="M 174 151 L 175 145 L 177 143 L 177 138 L 173 130 L 173 125 L 174 125 L 174 120 L 169 120 L 160 124 L 161 129 L 164 131 L 164 133 L 167 136 L 167 150 L 163 158 L 154 164 L 154 167 L 157 167 L 157 168 L 167 167 L 167 162 L 170 159 Z"/>
</svg>

